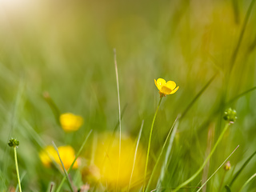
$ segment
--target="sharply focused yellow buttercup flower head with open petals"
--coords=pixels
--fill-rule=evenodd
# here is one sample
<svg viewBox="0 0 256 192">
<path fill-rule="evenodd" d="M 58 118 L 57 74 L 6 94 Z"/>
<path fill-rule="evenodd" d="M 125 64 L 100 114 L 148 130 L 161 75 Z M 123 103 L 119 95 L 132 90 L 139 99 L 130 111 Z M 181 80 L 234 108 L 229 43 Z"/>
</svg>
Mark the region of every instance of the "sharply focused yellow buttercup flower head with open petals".
<svg viewBox="0 0 256 192">
<path fill-rule="evenodd" d="M 156 81 L 154 79 L 154 84 L 155 86 L 158 87 L 160 97 L 162 98 L 163 96 L 166 96 L 166 94 L 174 94 L 179 86 L 176 87 L 176 83 L 173 81 L 168 81 L 164 80 L 163 78 L 158 78 Z"/>
</svg>

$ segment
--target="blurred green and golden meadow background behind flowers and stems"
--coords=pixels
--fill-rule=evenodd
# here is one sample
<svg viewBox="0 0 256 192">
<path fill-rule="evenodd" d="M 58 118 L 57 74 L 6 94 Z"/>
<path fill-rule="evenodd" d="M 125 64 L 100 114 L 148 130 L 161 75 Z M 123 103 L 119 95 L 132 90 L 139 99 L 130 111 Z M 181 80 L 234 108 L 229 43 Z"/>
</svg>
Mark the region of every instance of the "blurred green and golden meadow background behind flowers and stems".
<svg viewBox="0 0 256 192">
<path fill-rule="evenodd" d="M 159 100 L 154 79 L 173 80 L 180 86 L 162 100 L 150 149 L 149 173 L 175 118 L 186 111 L 162 182 L 166 191 L 198 170 L 206 158 L 207 146 L 214 145 L 224 127 L 224 110 L 237 110 L 238 119 L 210 158 L 204 176 L 213 174 L 240 145 L 229 159 L 226 185 L 256 150 L 256 91 L 242 94 L 256 86 L 256 6 L 251 7 L 246 20 L 250 3 L 0 0 L 0 190 L 9 191 L 17 185 L 13 150 L 7 146 L 11 137 L 20 142 L 18 163 L 20 174 L 26 172 L 24 191 L 46 191 L 50 182 L 58 186 L 61 181 L 62 174 L 43 166 L 38 156 L 42 146 L 52 141 L 78 151 L 93 130 L 81 155 L 83 166 L 90 165 L 95 142 L 102 134 L 112 134 L 118 123 L 114 48 L 123 110 L 122 135 L 135 143 L 144 120 L 139 144 L 142 154 L 146 154 Z M 62 113 L 82 116 L 84 124 L 78 131 L 65 133 L 61 129 L 42 96 L 45 91 Z M 239 94 L 242 96 L 229 102 Z M 162 160 L 151 190 L 156 187 Z M 252 158 L 242 170 L 232 191 L 238 191 L 255 173 L 255 162 Z M 205 191 L 218 191 L 224 172 L 218 170 Z M 71 178 L 78 186 L 86 183 L 79 169 L 71 172 Z M 202 178 L 201 173 L 188 186 L 200 186 Z M 256 191 L 255 183 L 250 182 L 244 191 Z M 134 191 L 140 186 L 142 182 Z M 64 189 L 69 190 L 67 185 Z"/>
</svg>

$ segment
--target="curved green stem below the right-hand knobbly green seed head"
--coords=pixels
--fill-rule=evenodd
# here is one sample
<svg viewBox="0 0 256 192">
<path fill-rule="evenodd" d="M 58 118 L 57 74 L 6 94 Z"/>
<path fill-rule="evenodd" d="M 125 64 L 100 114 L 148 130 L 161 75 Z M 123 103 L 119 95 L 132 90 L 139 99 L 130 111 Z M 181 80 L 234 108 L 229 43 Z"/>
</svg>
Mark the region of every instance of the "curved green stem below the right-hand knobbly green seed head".
<svg viewBox="0 0 256 192">
<path fill-rule="evenodd" d="M 198 174 L 200 174 L 200 172 L 202 171 L 203 167 L 206 166 L 206 163 L 209 161 L 209 159 L 212 156 L 212 154 L 214 154 L 214 150 L 216 150 L 216 148 L 218 146 L 218 143 L 222 140 L 222 137 L 225 134 L 227 128 L 229 128 L 229 126 L 230 126 L 230 122 L 227 122 L 226 126 L 222 130 L 222 133 L 219 135 L 218 140 L 217 140 L 217 142 L 214 145 L 214 148 L 210 151 L 210 154 L 207 156 L 206 160 L 202 163 L 202 166 L 199 168 L 199 170 L 195 174 L 193 174 L 189 179 L 187 179 L 185 182 L 182 182 L 182 184 L 177 186 L 177 188 L 175 190 L 173 190 L 172 192 L 176 192 L 179 189 L 181 189 L 183 186 L 186 186 L 188 183 L 193 181 L 194 178 L 196 178 L 198 176 Z"/>
</svg>

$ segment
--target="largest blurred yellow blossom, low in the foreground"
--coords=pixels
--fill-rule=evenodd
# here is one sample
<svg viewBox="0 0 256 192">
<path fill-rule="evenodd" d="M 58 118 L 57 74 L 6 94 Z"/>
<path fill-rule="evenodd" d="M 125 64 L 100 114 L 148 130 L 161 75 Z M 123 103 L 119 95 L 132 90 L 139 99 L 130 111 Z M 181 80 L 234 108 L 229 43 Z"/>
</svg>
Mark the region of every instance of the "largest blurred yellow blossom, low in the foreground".
<svg viewBox="0 0 256 192">
<path fill-rule="evenodd" d="M 113 139 L 113 140 L 112 140 Z M 101 182 L 106 183 L 108 189 L 115 189 L 118 186 L 125 188 L 129 185 L 130 174 L 134 163 L 135 145 L 134 140 L 129 137 L 122 137 L 121 161 L 118 178 L 119 163 L 119 138 L 113 138 L 111 134 L 104 134 L 98 138 L 98 146 L 95 150 L 94 164 L 98 166 L 101 174 Z M 146 162 L 146 153 L 141 146 L 138 146 L 134 173 L 131 180 L 131 187 L 136 188 L 138 183 L 143 181 Z"/>
</svg>

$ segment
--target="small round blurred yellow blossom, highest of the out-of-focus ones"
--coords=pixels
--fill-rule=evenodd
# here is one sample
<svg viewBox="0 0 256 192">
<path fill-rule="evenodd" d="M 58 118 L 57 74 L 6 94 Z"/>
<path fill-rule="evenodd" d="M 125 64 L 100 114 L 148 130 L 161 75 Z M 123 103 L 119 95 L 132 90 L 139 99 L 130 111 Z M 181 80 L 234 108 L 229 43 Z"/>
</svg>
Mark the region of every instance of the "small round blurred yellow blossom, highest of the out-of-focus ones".
<svg viewBox="0 0 256 192">
<path fill-rule="evenodd" d="M 79 115 L 66 113 L 60 115 L 59 122 L 61 123 L 63 130 L 75 131 L 82 126 L 83 119 Z"/>
</svg>

